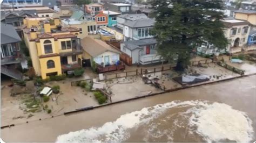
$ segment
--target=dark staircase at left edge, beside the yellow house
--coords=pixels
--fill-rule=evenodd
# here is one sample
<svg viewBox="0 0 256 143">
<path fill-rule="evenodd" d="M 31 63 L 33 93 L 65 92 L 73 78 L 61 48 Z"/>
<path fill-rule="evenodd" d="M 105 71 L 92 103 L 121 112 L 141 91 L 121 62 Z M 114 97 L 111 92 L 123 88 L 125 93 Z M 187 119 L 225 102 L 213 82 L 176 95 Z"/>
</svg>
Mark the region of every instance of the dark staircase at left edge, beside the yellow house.
<svg viewBox="0 0 256 143">
<path fill-rule="evenodd" d="M 19 72 L 16 69 L 9 68 L 7 66 L 1 66 L 1 73 L 12 78 L 15 78 L 16 80 L 23 80 L 23 74 L 21 72 Z"/>
</svg>

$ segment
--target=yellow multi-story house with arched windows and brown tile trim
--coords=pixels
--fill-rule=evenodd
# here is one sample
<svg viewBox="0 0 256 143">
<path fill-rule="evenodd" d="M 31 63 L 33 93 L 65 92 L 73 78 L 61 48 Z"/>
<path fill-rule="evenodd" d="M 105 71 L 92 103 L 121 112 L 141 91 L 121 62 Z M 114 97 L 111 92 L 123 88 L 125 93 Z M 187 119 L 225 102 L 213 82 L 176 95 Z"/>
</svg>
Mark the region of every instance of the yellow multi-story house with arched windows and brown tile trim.
<svg viewBox="0 0 256 143">
<path fill-rule="evenodd" d="M 26 18 L 24 25 L 24 40 L 38 76 L 70 74 L 81 67 L 78 28 L 62 28 L 59 19 L 51 18 Z"/>
</svg>

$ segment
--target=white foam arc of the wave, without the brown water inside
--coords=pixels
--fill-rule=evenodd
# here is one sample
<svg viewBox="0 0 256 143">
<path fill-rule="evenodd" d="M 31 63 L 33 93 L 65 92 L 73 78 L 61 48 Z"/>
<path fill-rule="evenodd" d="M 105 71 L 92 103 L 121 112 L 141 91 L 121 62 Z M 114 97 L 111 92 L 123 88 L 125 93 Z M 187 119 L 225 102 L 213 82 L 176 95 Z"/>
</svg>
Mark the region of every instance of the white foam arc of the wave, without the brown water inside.
<svg viewBox="0 0 256 143">
<path fill-rule="evenodd" d="M 190 125 L 197 126 L 196 132 L 205 140 L 219 141 L 221 139 L 230 139 L 248 142 L 252 139 L 252 123 L 244 112 L 234 110 L 231 106 L 221 103 L 208 104 L 201 101 L 174 101 L 127 113 L 120 116 L 116 121 L 105 123 L 99 128 L 91 127 L 87 130 L 59 135 L 56 142 L 125 141 L 130 137 L 127 129 L 148 123 L 167 109 L 177 106 L 191 107 L 187 110 L 187 113 L 193 113 L 189 120 Z M 157 136 L 158 134 L 155 135 Z M 172 139 L 172 137 L 169 138 Z"/>
</svg>

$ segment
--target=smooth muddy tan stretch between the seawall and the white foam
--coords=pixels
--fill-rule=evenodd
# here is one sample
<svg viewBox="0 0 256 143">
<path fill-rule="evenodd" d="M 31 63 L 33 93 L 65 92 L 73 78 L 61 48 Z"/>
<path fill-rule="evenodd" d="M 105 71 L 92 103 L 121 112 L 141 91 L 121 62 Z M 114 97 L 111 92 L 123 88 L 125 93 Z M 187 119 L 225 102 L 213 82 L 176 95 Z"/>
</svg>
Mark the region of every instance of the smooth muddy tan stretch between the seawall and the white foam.
<svg viewBox="0 0 256 143">
<path fill-rule="evenodd" d="M 114 121 L 127 112 L 140 110 L 144 107 L 163 104 L 171 101 L 206 100 L 231 105 L 235 110 L 248 113 L 252 126 L 256 128 L 256 76 L 239 78 L 200 87 L 179 90 L 163 95 L 147 97 L 106 106 L 70 116 L 59 116 L 51 119 L 33 121 L 2 130 L 4 141 L 56 141 L 58 135 L 84 128 L 99 127 L 108 121 Z M 255 139 L 255 134 L 254 134 Z M 142 141 L 131 139 L 132 141 Z"/>
</svg>

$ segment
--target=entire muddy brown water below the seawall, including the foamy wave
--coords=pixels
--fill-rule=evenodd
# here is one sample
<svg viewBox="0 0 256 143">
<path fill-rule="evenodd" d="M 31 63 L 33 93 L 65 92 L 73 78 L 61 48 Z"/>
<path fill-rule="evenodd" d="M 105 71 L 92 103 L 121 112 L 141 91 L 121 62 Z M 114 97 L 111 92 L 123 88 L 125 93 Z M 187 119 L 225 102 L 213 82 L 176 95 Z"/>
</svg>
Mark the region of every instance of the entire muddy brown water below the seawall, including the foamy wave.
<svg viewBox="0 0 256 143">
<path fill-rule="evenodd" d="M 2 130 L 4 141 L 255 140 L 256 76 Z"/>
</svg>

